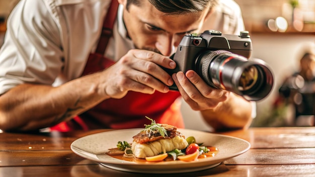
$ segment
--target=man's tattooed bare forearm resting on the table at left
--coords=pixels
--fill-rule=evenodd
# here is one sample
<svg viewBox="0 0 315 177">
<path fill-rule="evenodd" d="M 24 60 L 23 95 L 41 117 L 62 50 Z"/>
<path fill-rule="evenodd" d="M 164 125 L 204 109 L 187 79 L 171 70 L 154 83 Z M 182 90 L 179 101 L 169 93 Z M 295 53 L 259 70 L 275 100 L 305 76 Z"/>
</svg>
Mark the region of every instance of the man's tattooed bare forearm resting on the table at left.
<svg viewBox="0 0 315 177">
<path fill-rule="evenodd" d="M 59 87 L 18 85 L 0 96 L 0 129 L 26 131 L 49 127 L 71 119 L 104 99 L 89 76 Z"/>
</svg>

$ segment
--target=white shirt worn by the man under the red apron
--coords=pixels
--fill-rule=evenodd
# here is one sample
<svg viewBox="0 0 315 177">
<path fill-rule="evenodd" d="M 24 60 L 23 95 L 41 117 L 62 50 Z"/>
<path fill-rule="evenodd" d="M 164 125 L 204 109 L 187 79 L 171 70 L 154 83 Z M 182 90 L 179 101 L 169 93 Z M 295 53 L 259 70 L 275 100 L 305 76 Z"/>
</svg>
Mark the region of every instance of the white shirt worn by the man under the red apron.
<svg viewBox="0 0 315 177">
<path fill-rule="evenodd" d="M 59 85 L 80 77 L 88 56 L 96 49 L 110 1 L 21 0 L 8 19 L 0 49 L 0 95 L 28 83 Z M 119 60 L 134 48 L 126 38 L 122 6 L 105 55 Z M 226 34 L 244 31 L 240 7 L 219 2 L 203 30 Z"/>
</svg>

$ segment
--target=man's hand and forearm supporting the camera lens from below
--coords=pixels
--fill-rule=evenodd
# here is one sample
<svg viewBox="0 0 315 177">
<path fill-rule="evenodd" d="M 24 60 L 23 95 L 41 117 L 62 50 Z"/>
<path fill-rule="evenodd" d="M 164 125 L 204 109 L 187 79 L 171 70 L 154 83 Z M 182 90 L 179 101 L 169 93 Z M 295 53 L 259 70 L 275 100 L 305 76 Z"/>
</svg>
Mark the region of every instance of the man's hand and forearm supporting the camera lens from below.
<svg viewBox="0 0 315 177">
<path fill-rule="evenodd" d="M 252 104 L 243 97 L 209 86 L 193 70 L 172 76 L 183 99 L 215 130 L 250 126 Z"/>
</svg>

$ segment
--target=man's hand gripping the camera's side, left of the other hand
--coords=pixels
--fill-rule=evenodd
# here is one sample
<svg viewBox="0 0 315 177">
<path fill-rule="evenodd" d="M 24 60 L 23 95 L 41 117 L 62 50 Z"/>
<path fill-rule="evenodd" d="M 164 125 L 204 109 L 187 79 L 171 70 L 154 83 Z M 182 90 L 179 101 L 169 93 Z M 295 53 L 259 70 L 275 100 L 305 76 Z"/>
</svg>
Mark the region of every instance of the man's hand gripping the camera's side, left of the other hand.
<svg viewBox="0 0 315 177">
<path fill-rule="evenodd" d="M 130 50 L 117 63 L 103 71 L 101 91 L 110 98 L 122 98 L 128 91 L 153 94 L 169 92 L 172 77 L 161 66 L 174 69 L 176 63 L 159 53 Z"/>
</svg>

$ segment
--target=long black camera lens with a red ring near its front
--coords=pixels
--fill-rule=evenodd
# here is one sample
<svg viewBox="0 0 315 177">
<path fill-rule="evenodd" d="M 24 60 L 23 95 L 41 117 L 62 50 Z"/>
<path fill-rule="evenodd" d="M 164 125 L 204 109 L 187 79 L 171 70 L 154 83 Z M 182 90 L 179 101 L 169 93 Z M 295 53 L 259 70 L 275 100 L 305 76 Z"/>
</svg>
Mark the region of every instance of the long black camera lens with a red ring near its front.
<svg viewBox="0 0 315 177">
<path fill-rule="evenodd" d="M 225 50 L 205 51 L 195 60 L 195 70 L 207 84 L 250 101 L 265 98 L 273 86 L 273 76 L 264 61 Z"/>
</svg>

